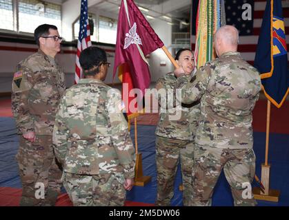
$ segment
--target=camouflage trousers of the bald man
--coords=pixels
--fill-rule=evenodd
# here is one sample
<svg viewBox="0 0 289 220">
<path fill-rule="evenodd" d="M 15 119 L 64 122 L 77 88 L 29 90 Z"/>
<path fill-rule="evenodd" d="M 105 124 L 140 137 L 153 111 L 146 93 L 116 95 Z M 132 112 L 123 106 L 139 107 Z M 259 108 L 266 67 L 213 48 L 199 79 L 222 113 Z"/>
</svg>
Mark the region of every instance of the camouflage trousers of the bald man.
<svg viewBox="0 0 289 220">
<path fill-rule="evenodd" d="M 192 206 L 211 206 L 212 192 L 223 169 L 235 206 L 255 206 L 251 183 L 255 175 L 253 149 L 212 148 L 195 144 Z"/>
</svg>

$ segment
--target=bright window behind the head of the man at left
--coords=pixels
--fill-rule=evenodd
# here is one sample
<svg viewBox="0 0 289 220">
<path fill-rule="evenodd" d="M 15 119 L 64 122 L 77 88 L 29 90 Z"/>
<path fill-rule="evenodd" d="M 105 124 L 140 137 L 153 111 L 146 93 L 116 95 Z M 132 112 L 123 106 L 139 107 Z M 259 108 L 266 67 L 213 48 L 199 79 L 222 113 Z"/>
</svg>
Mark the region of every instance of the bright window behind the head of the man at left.
<svg viewBox="0 0 289 220">
<path fill-rule="evenodd" d="M 61 35 L 61 5 L 39 0 L 19 0 L 19 32 L 33 33 L 43 23 L 56 25 Z"/>
</svg>

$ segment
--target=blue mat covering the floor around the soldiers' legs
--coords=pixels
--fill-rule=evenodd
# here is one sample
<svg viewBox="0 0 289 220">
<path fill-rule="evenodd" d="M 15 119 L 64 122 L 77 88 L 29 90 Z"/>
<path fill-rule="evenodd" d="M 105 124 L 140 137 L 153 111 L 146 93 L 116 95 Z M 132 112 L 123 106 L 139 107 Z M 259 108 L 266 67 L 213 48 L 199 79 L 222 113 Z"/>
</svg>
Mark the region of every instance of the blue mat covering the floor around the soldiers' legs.
<svg viewBox="0 0 289 220">
<path fill-rule="evenodd" d="M 155 129 L 156 126 L 139 125 L 138 146 L 143 159 L 143 175 L 152 177 L 152 180 L 144 187 L 134 186 L 127 193 L 128 201 L 143 203 L 155 203 L 157 197 L 157 173 L 155 163 Z M 134 142 L 134 126 L 130 131 Z M 257 157 L 256 174 L 261 177 L 261 164 L 265 159 L 265 133 L 254 133 L 254 150 Z M 18 149 L 19 137 L 16 133 L 15 123 L 12 118 L 0 118 L 0 187 L 21 188 L 18 175 L 17 162 L 14 159 Z M 257 201 L 258 206 L 289 206 L 289 135 L 271 134 L 269 146 L 270 188 L 281 190 L 279 202 Z M 172 206 L 182 206 L 182 192 L 180 166 L 178 166 L 175 179 L 175 195 L 172 198 Z M 257 186 L 257 184 L 255 184 Z M 226 177 L 221 176 L 215 187 L 212 197 L 213 206 L 232 206 L 232 195 Z"/>
</svg>

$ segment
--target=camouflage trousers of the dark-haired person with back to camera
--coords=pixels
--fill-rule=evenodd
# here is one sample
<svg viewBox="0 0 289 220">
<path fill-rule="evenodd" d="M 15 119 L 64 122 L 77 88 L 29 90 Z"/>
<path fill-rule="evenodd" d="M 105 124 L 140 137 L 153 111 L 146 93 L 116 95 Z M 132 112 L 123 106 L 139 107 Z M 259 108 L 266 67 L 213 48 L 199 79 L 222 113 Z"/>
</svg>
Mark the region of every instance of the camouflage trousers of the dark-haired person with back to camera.
<svg viewBox="0 0 289 220">
<path fill-rule="evenodd" d="M 123 175 L 79 175 L 63 172 L 63 186 L 73 206 L 123 206 Z"/>
</svg>

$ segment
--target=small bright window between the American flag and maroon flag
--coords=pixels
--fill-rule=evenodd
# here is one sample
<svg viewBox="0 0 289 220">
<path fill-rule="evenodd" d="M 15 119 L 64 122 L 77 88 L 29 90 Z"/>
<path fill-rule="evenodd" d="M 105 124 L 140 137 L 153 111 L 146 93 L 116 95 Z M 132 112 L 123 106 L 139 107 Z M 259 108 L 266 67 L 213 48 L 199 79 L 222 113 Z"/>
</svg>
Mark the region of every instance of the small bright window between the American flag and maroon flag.
<svg viewBox="0 0 289 220">
<path fill-rule="evenodd" d="M 117 42 L 117 20 L 99 17 L 99 31 L 97 41 L 102 43 Z"/>
</svg>

